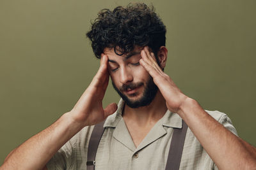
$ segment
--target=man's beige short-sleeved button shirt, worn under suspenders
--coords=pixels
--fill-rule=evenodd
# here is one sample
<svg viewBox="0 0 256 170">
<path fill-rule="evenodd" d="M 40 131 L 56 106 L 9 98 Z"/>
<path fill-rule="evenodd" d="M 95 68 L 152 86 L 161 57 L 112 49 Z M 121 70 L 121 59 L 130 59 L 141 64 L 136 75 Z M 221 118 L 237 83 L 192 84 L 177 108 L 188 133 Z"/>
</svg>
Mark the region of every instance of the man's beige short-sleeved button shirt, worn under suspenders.
<svg viewBox="0 0 256 170">
<path fill-rule="evenodd" d="M 96 155 L 95 169 L 165 169 L 173 127 L 181 128 L 182 119 L 177 113 L 166 111 L 138 148 L 122 118 L 124 101 L 109 116 Z M 209 115 L 237 135 L 230 118 L 220 111 L 207 111 Z M 93 126 L 84 127 L 68 141 L 47 163 L 48 169 L 86 169 L 87 148 Z M 180 169 L 218 169 L 193 132 L 188 128 Z"/>
</svg>

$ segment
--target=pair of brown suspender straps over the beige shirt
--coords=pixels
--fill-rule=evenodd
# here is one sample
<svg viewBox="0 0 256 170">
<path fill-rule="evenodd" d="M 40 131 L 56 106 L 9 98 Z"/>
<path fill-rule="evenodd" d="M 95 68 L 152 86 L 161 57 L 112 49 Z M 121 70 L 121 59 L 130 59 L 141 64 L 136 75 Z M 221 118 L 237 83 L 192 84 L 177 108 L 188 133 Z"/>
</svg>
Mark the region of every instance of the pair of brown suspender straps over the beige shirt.
<svg viewBox="0 0 256 170">
<path fill-rule="evenodd" d="M 87 170 L 95 169 L 95 157 L 97 148 L 100 143 L 100 138 L 104 132 L 104 122 L 94 126 L 92 136 L 89 141 L 88 153 L 87 153 Z M 169 155 L 166 162 L 166 170 L 177 170 L 180 167 L 180 160 L 182 156 L 184 141 L 186 138 L 186 132 L 188 125 L 182 120 L 182 128 L 175 128 L 173 130 L 172 141 L 170 145 Z"/>
</svg>

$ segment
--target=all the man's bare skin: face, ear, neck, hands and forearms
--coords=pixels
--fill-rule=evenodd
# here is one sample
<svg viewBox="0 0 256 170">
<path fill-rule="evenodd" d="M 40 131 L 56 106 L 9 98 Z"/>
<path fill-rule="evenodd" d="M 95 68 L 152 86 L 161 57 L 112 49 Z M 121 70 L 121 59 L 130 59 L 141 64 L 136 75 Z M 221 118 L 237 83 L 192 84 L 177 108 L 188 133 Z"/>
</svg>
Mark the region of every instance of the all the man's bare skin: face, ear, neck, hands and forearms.
<svg viewBox="0 0 256 170">
<path fill-rule="evenodd" d="M 45 164 L 52 155 L 72 136 L 83 127 L 97 124 L 113 114 L 117 108 L 116 104 L 102 108 L 109 74 L 116 87 L 131 82 L 146 82 L 150 75 L 159 88 L 156 97 L 148 106 L 130 108 L 125 105 L 123 117 L 136 146 L 168 109 L 178 113 L 188 124 L 219 169 L 256 169 L 256 149 L 209 116 L 194 99 L 183 94 L 172 78 L 163 72 L 167 59 L 167 49 L 164 46 L 161 46 L 157 53 L 159 66 L 147 46 L 135 50 L 140 52 L 140 64 L 137 66 L 131 65 L 132 57 L 130 60 L 124 60 L 106 48 L 100 59 L 99 71 L 74 108 L 13 150 L 0 169 L 46 169 Z M 111 65 L 113 63 L 110 64 L 109 60 L 115 60 L 116 65 Z M 118 69 L 113 72 L 114 67 Z M 143 87 L 134 90 L 135 96 L 129 96 L 127 92 L 124 94 L 131 100 L 139 100 L 143 90 Z M 159 108 L 163 109 L 159 111 Z M 23 164 L 24 162 L 26 164 Z"/>
</svg>

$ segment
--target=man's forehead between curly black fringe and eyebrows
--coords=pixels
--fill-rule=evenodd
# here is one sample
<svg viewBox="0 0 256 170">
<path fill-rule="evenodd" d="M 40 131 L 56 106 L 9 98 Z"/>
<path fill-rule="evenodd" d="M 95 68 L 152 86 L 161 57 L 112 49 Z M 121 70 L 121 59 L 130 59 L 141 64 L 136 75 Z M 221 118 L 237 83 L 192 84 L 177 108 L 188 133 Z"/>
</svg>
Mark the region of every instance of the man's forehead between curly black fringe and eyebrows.
<svg viewBox="0 0 256 170">
<path fill-rule="evenodd" d="M 118 50 L 118 47 L 116 48 Z M 104 54 L 108 55 L 109 60 L 116 60 L 116 59 L 122 59 L 122 60 L 127 60 L 133 55 L 138 55 L 140 54 L 141 50 L 143 50 L 143 47 L 140 46 L 135 46 L 134 50 L 129 53 L 125 53 L 124 55 L 117 55 L 115 53 L 114 48 L 104 48 Z"/>
</svg>

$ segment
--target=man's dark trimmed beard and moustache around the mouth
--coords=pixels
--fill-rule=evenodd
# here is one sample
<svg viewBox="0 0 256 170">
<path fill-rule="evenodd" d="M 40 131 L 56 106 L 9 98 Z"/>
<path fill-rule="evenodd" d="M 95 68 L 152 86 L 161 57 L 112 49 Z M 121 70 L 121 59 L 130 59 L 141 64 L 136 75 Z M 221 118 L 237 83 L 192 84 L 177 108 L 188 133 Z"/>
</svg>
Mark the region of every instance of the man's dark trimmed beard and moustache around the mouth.
<svg viewBox="0 0 256 170">
<path fill-rule="evenodd" d="M 153 99 L 156 97 L 156 93 L 158 90 L 158 87 L 156 86 L 156 84 L 153 81 L 152 76 L 149 76 L 148 81 L 146 83 L 143 82 L 139 82 L 139 83 L 129 83 L 127 85 L 122 85 L 122 87 L 120 87 L 119 89 L 116 87 L 115 83 L 113 83 L 112 81 L 112 85 L 114 87 L 114 89 L 116 90 L 116 92 L 119 94 L 120 97 L 122 97 L 122 99 L 125 101 L 125 104 L 127 104 L 127 106 L 129 106 L 130 108 L 139 108 L 142 106 L 148 106 Z M 128 90 L 128 89 L 135 89 L 137 87 L 141 87 L 144 86 L 144 90 L 143 90 L 143 94 L 140 97 L 140 99 L 137 100 L 133 100 L 133 99 L 129 99 L 128 96 L 125 96 L 125 94 L 123 93 L 124 91 Z M 134 94 L 131 94 L 130 96 L 137 96 L 138 93 L 135 92 Z"/>
</svg>

